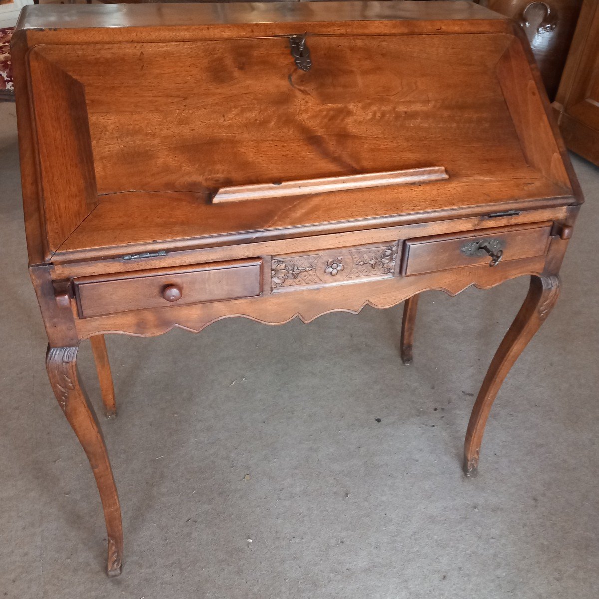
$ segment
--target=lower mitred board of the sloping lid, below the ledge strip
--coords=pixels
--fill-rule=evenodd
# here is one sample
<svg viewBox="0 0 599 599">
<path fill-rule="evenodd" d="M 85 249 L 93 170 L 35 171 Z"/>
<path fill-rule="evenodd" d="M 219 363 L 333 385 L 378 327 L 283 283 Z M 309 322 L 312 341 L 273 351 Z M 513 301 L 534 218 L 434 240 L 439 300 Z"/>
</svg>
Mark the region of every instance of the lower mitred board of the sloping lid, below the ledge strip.
<svg viewBox="0 0 599 599">
<path fill-rule="evenodd" d="M 568 205 L 571 193 L 547 179 L 471 179 L 299 198 L 211 205 L 191 193 L 122 193 L 104 199 L 60 247 L 54 260 L 172 247 L 202 247 L 337 231 L 357 231 Z M 132 215 L 139 217 L 132 218 Z M 425 216 L 426 215 L 426 216 Z M 126 249 L 123 248 L 126 244 Z"/>
</svg>

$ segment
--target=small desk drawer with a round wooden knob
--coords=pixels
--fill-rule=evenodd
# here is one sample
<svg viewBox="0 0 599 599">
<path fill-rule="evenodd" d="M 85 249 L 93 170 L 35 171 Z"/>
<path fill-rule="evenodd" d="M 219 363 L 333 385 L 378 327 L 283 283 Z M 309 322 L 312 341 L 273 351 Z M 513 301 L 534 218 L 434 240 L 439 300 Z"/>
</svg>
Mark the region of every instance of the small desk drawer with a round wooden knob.
<svg viewBox="0 0 599 599">
<path fill-rule="evenodd" d="M 81 318 L 143 308 L 199 304 L 259 295 L 262 260 L 212 262 L 80 277 L 74 280 Z"/>
</svg>

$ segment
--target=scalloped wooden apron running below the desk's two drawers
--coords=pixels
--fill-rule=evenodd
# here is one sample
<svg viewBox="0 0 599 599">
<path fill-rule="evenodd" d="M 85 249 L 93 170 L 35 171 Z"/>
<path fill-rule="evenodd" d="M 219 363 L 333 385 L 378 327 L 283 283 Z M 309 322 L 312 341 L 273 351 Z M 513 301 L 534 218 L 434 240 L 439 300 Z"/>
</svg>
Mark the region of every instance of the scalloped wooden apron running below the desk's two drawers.
<svg viewBox="0 0 599 599">
<path fill-rule="evenodd" d="M 552 240 L 552 245 L 554 243 Z M 153 337 L 173 328 L 200 332 L 218 320 L 239 316 L 267 325 L 282 325 L 294 318 L 308 323 L 331 312 L 358 314 L 366 305 L 391 308 L 426 289 L 441 289 L 450 295 L 456 295 L 471 285 L 486 289 L 513 277 L 540 274 L 547 259 L 537 256 L 500 262 L 495 268 L 485 264 L 413 277 L 356 281 L 351 285 L 299 286 L 294 292 L 228 302 L 188 306 L 175 304 L 168 310 L 140 310 L 137 313 L 78 319 L 77 331 L 81 339 L 108 333 Z"/>
</svg>

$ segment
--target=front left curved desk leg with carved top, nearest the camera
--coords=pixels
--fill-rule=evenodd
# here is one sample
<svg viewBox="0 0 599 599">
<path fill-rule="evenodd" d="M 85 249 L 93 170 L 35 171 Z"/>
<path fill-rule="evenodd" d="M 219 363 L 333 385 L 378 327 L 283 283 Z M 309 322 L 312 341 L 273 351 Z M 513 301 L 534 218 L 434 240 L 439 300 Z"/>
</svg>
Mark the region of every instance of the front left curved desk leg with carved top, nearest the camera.
<svg viewBox="0 0 599 599">
<path fill-rule="evenodd" d="M 119 496 L 98 420 L 78 380 L 78 349 L 48 347 L 46 367 L 56 399 L 83 446 L 96 477 L 108 532 L 108 576 L 117 576 L 121 572 L 123 558 Z"/>
</svg>

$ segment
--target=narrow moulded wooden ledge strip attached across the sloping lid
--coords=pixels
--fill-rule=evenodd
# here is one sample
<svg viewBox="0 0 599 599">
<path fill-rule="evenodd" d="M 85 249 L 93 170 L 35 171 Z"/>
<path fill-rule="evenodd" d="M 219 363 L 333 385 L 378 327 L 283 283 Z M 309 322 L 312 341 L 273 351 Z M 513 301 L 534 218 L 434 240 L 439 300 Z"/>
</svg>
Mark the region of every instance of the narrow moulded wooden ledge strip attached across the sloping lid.
<svg viewBox="0 0 599 599">
<path fill-rule="evenodd" d="M 256 185 L 235 185 L 221 187 L 212 198 L 213 204 L 238 202 L 245 199 L 280 198 L 291 195 L 308 195 L 362 187 L 386 187 L 409 183 L 427 183 L 449 179 L 443 167 L 409 168 L 403 171 L 347 175 L 345 177 L 323 177 L 322 179 L 302 179 L 283 183 L 258 183 Z"/>
</svg>

